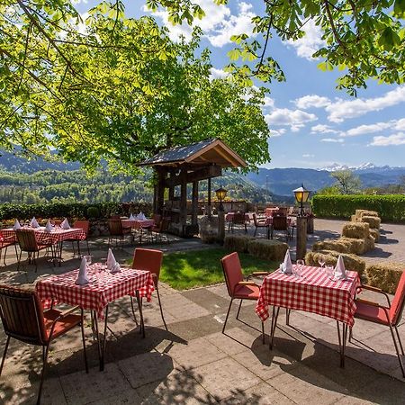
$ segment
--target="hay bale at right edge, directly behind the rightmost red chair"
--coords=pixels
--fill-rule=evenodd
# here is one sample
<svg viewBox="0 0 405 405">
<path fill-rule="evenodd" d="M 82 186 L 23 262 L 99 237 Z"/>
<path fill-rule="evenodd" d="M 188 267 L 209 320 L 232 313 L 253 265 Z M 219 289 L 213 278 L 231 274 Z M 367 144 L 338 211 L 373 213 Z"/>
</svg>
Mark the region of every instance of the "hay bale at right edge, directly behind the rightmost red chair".
<svg viewBox="0 0 405 405">
<path fill-rule="evenodd" d="M 367 266 L 367 284 L 381 288 L 385 293 L 394 294 L 405 266 L 401 263 L 384 262 Z"/>
</svg>

